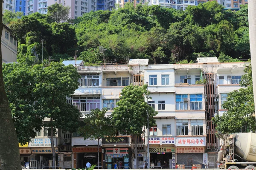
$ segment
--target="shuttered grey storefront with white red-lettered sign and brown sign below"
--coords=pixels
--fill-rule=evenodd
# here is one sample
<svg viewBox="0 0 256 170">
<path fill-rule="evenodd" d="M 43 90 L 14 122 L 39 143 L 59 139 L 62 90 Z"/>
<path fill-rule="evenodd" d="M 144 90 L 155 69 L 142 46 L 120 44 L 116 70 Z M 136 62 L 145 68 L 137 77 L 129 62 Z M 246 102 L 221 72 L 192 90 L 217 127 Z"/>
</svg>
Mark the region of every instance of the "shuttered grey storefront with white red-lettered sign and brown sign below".
<svg viewBox="0 0 256 170">
<path fill-rule="evenodd" d="M 177 164 L 190 169 L 200 164 L 204 168 L 205 137 L 177 137 Z"/>
</svg>

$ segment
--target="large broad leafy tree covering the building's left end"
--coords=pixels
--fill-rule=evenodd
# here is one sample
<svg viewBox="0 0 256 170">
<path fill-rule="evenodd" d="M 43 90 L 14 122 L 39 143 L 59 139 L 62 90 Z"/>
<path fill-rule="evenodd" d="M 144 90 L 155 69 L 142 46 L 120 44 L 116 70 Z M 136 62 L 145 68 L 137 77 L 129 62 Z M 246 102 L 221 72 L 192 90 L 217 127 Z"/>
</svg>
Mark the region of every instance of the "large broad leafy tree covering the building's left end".
<svg viewBox="0 0 256 170">
<path fill-rule="evenodd" d="M 42 125 L 49 127 L 52 166 L 55 166 L 53 136 L 56 129 L 75 132 L 78 128 L 77 120 L 81 117 L 78 108 L 67 104 L 66 99 L 78 88 L 79 74 L 76 68 L 59 62 L 52 62 L 46 68 L 42 64 L 13 64 L 6 65 L 4 73 L 19 141 L 26 143 L 34 138 L 34 128 L 40 130 Z M 43 122 L 46 118 L 49 121 Z"/>
</svg>

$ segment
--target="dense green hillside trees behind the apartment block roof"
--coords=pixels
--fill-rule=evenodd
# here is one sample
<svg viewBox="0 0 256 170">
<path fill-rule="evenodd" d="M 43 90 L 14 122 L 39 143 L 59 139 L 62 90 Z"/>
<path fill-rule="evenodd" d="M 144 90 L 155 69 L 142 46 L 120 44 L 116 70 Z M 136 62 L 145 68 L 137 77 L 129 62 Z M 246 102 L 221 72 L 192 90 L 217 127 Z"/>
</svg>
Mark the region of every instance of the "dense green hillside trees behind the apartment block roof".
<svg viewBox="0 0 256 170">
<path fill-rule="evenodd" d="M 250 58 L 248 8 L 223 10 L 215 1 L 189 6 L 185 11 L 160 6 L 134 8 L 126 4 L 113 11 L 91 11 L 59 23 L 49 14 L 33 13 L 10 23 L 19 40 L 19 61 L 40 59 L 44 39 L 44 59 L 78 59 L 86 65 L 113 62 L 114 59 L 148 58 L 151 64 L 195 62 L 200 57 L 221 57 L 221 62 Z M 105 51 L 99 51 L 102 46 Z M 35 49 L 31 52 L 31 49 Z M 176 58 L 175 58 L 176 57 Z M 25 58 L 25 59 L 24 59 Z M 234 60 L 233 60 L 234 59 Z"/>
</svg>

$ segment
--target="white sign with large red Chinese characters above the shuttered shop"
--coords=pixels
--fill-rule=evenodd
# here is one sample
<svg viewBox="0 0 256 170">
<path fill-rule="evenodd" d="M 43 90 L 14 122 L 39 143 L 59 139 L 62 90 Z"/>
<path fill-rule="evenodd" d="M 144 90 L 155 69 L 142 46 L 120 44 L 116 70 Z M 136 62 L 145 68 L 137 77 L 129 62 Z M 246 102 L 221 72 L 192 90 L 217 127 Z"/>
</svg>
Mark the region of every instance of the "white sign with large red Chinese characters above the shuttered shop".
<svg viewBox="0 0 256 170">
<path fill-rule="evenodd" d="M 205 146 L 205 137 L 177 138 L 177 146 Z"/>
</svg>

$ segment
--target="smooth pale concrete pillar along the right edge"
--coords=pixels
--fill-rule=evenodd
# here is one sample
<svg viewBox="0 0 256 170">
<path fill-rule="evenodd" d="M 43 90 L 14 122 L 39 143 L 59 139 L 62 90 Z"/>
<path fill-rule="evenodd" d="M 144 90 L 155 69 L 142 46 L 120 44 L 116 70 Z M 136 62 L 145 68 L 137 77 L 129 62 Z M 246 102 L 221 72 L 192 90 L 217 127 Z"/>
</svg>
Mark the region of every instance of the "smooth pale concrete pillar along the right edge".
<svg viewBox="0 0 256 170">
<path fill-rule="evenodd" d="M 253 74 L 253 96 L 256 101 L 256 0 L 248 0 L 250 54 Z M 256 102 L 255 102 L 256 103 Z M 256 105 L 254 105 L 256 111 Z M 256 116 L 255 116 L 256 119 Z"/>
</svg>

